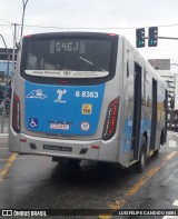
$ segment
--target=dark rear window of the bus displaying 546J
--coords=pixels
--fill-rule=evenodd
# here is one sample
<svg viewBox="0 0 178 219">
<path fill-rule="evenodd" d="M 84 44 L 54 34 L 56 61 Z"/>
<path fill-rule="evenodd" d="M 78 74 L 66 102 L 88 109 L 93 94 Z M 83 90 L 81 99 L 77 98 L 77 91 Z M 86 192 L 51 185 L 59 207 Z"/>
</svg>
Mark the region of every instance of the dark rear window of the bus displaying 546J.
<svg viewBox="0 0 178 219">
<path fill-rule="evenodd" d="M 24 73 L 46 78 L 109 76 L 112 41 L 107 39 L 36 39 L 27 43 Z"/>
</svg>

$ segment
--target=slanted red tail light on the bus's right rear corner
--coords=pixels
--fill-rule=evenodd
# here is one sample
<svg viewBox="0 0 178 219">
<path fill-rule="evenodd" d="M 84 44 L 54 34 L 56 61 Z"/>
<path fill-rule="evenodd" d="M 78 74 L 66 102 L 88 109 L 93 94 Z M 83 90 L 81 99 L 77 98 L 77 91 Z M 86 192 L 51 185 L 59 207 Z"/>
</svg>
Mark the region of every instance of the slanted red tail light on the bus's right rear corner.
<svg viewBox="0 0 178 219">
<path fill-rule="evenodd" d="M 118 117 L 118 108 L 119 108 L 119 98 L 116 98 L 109 103 L 102 139 L 108 140 L 110 139 L 116 132 L 116 125 L 117 125 L 117 117 Z"/>
</svg>

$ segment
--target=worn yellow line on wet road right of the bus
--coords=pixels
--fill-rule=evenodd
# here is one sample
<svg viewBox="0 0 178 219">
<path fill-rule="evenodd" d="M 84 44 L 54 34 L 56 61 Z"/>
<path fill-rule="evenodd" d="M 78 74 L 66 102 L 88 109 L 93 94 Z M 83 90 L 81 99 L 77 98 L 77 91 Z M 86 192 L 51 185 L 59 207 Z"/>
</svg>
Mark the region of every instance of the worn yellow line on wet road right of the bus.
<svg viewBox="0 0 178 219">
<path fill-rule="evenodd" d="M 134 196 L 144 185 L 146 185 L 148 180 L 151 177 L 154 177 L 160 170 L 160 168 L 164 167 L 166 162 L 171 160 L 176 155 L 178 155 L 178 151 L 171 151 L 168 156 L 166 156 L 166 158 L 158 167 L 148 170 L 130 189 L 128 189 L 128 191 L 126 191 L 125 193 L 126 198 L 120 201 L 115 200 L 112 203 L 109 205 L 109 209 L 112 210 L 112 212 L 119 210 L 127 202 L 127 200 L 129 200 L 131 196 Z M 100 215 L 98 217 L 101 219 L 110 219 L 112 215 L 111 213 Z"/>
</svg>

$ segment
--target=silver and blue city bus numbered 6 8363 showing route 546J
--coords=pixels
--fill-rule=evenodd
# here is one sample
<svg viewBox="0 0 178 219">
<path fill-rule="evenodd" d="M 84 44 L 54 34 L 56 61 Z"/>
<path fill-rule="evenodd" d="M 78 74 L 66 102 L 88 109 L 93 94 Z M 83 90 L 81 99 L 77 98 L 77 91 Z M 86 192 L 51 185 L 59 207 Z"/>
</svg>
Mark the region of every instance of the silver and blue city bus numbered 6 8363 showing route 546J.
<svg viewBox="0 0 178 219">
<path fill-rule="evenodd" d="M 22 39 L 10 151 L 129 167 L 167 133 L 167 87 L 125 37 L 59 32 Z"/>
</svg>

